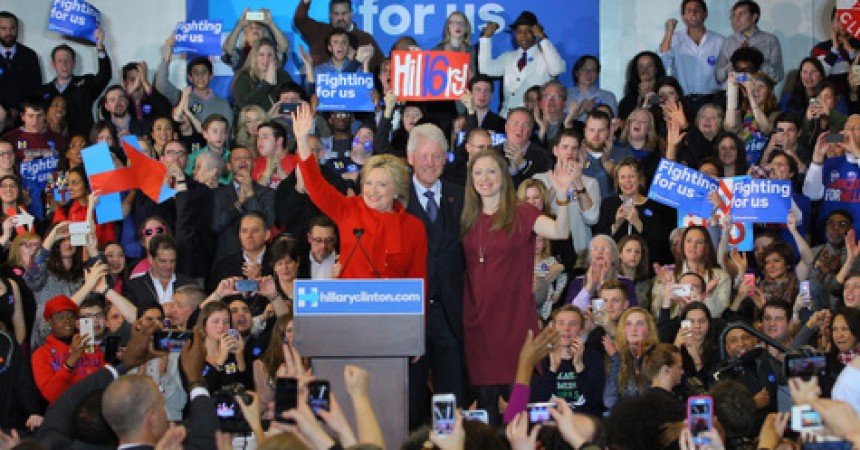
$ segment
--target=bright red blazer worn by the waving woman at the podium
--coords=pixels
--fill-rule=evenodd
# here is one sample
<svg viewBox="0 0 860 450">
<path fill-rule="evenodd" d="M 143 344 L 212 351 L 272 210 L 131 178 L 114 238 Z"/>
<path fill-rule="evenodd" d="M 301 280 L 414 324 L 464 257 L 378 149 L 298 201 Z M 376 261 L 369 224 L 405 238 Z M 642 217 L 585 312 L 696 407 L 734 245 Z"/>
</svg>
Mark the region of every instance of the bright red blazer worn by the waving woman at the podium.
<svg viewBox="0 0 860 450">
<path fill-rule="evenodd" d="M 323 178 L 313 156 L 300 160 L 299 168 L 311 200 L 337 224 L 340 263 L 344 266 L 341 278 L 426 280 L 427 232 L 420 219 L 407 213 L 398 201 L 394 202 L 394 212 L 384 213 L 368 207 L 361 196 L 344 197 Z M 373 265 L 361 247 L 357 247 L 354 233 L 357 229 L 364 230 L 361 246 Z M 349 258 L 350 253 L 353 253 L 352 258 Z"/>
</svg>

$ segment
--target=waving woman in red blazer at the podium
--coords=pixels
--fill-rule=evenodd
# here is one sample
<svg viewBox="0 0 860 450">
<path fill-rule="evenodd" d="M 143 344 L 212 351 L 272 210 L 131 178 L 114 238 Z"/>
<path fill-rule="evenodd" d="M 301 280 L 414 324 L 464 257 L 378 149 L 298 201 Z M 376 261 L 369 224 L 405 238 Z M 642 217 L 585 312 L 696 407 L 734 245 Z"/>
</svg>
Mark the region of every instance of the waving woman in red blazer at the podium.
<svg viewBox="0 0 860 450">
<path fill-rule="evenodd" d="M 421 220 L 406 212 L 406 165 L 392 155 L 370 158 L 361 169 L 361 195 L 344 197 L 323 178 L 311 152 L 311 108 L 299 105 L 292 117 L 298 176 L 340 232 L 341 278 L 426 278 L 427 234 Z"/>
</svg>

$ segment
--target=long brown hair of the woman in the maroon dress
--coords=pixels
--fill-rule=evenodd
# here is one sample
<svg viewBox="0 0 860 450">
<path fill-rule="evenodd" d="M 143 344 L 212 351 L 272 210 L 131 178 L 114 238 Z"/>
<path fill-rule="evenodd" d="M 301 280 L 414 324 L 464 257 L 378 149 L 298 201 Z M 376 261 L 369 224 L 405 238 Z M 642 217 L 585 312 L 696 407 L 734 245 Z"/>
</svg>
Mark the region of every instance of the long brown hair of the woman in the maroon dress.
<svg viewBox="0 0 860 450">
<path fill-rule="evenodd" d="M 504 230 L 505 234 L 511 234 L 519 202 L 517 201 L 517 193 L 514 191 L 514 181 L 511 179 L 510 173 L 508 173 L 508 162 L 494 149 L 482 150 L 469 161 L 469 170 L 466 173 L 466 197 L 463 204 L 463 214 L 460 216 L 460 234 L 465 236 L 472 231 L 472 228 L 478 222 L 478 217 L 484 211 L 483 199 L 481 199 L 478 191 L 475 190 L 475 182 L 472 180 L 472 169 L 475 163 L 482 158 L 491 158 L 495 161 L 499 166 L 499 173 L 502 176 L 499 209 L 493 214 L 493 223 L 490 225 L 490 231 Z"/>
</svg>

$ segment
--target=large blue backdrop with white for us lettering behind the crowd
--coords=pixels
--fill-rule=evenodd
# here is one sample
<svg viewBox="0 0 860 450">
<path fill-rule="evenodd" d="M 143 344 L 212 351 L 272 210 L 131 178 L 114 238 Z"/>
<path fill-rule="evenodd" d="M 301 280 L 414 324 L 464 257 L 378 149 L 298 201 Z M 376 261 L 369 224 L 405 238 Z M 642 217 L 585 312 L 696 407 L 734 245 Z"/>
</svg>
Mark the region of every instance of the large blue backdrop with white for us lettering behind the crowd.
<svg viewBox="0 0 860 450">
<path fill-rule="evenodd" d="M 299 79 L 299 69 L 295 62 L 301 61 L 298 45 L 305 44 L 293 27 L 293 14 L 298 1 L 301 0 L 187 0 L 187 20 L 222 20 L 223 33 L 226 36 L 246 7 L 254 11 L 268 8 L 272 11 L 275 23 L 286 34 L 292 48 L 285 68 L 294 78 Z M 445 19 L 452 11 L 462 11 L 466 14 L 472 23 L 473 41 L 476 41 L 480 30 L 488 21 L 497 22 L 503 30 L 507 30 L 509 24 L 520 12 L 529 9 L 537 15 L 547 36 L 567 62 L 567 73 L 561 75 L 559 80 L 568 86 L 573 84 L 571 69 L 574 61 L 584 54 L 597 55 L 599 50 L 599 0 L 576 2 L 569 0 L 536 2 L 354 0 L 353 9 L 354 20 L 358 27 L 371 33 L 386 53 L 391 49 L 394 41 L 403 35 L 414 37 L 422 48 L 431 48 L 442 40 Z M 321 22 L 328 22 L 328 1 L 313 0 L 310 15 Z M 493 38 L 493 49 L 496 53 L 494 56 L 512 48 L 512 33 L 507 31 L 496 33 Z M 223 68 L 216 69 L 216 73 L 221 76 L 216 77 L 213 87 L 221 95 L 226 95 L 229 91 L 230 77 L 224 76 Z"/>
</svg>

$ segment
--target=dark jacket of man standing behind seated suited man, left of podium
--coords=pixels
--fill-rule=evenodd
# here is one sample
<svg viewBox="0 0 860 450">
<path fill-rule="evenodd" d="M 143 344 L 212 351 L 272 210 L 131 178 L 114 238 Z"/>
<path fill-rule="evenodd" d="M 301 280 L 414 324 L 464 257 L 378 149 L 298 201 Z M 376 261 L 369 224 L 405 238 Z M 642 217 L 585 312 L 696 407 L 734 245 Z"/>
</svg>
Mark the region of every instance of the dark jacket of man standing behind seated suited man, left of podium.
<svg viewBox="0 0 860 450">
<path fill-rule="evenodd" d="M 275 222 L 275 191 L 257 183 L 254 195 L 239 208 L 234 205 L 238 196 L 232 183 L 215 189 L 212 207 L 212 232 L 218 237 L 214 260 L 242 251 L 239 243 L 239 222 L 246 212 L 256 211 L 266 217 L 266 226 Z"/>
</svg>

